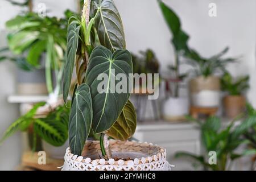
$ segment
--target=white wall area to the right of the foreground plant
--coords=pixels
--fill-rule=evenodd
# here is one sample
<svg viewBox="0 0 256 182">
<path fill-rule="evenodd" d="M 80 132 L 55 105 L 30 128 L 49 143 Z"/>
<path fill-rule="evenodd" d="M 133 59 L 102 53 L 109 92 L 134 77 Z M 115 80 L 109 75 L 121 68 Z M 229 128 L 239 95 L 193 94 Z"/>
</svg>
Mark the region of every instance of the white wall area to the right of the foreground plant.
<svg viewBox="0 0 256 182">
<path fill-rule="evenodd" d="M 229 65 L 234 76 L 250 75 L 249 101 L 256 107 L 255 9 L 254 0 L 165 0 L 191 36 L 189 45 L 209 57 L 229 46 L 226 56 L 241 56 L 240 64 Z M 209 3 L 216 3 L 217 17 L 208 15 Z M 156 0 L 115 0 L 125 26 L 127 48 L 138 52 L 152 48 L 161 70 L 174 62 L 171 34 Z"/>
</svg>

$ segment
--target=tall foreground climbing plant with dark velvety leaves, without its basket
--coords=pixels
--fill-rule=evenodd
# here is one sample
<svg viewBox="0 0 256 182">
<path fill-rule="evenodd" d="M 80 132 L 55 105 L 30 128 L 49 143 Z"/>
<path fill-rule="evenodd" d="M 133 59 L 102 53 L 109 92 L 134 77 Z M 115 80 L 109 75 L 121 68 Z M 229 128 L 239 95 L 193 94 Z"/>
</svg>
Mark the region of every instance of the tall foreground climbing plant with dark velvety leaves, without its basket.
<svg viewBox="0 0 256 182">
<path fill-rule="evenodd" d="M 118 73 L 126 78 L 133 73 L 131 54 L 125 49 L 122 20 L 113 1 L 85 0 L 82 16 L 69 19 L 67 42 L 63 96 L 66 103 L 68 96 L 72 96 L 69 146 L 73 154 L 81 155 L 89 133 L 101 134 L 102 156 L 108 159 L 111 152 L 107 135 L 127 140 L 136 127 L 129 90 L 117 93 L 111 89 L 112 80 L 118 83 Z M 102 73 L 108 80 L 103 92 L 98 92 L 102 83 L 98 76 Z M 76 86 L 72 86 L 73 75 L 76 75 Z M 128 85 L 128 81 L 122 85 Z"/>
</svg>

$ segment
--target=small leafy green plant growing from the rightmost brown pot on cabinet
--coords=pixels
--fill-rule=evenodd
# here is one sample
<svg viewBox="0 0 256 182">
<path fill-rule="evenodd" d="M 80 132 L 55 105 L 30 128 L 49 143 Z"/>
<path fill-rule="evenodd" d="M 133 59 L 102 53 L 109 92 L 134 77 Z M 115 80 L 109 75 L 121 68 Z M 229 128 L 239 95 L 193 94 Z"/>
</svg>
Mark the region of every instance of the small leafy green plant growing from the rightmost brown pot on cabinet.
<svg viewBox="0 0 256 182">
<path fill-rule="evenodd" d="M 250 88 L 249 79 L 249 76 L 242 76 L 235 80 L 230 73 L 226 72 L 221 77 L 221 89 L 232 96 L 240 96 L 246 89 Z"/>
</svg>

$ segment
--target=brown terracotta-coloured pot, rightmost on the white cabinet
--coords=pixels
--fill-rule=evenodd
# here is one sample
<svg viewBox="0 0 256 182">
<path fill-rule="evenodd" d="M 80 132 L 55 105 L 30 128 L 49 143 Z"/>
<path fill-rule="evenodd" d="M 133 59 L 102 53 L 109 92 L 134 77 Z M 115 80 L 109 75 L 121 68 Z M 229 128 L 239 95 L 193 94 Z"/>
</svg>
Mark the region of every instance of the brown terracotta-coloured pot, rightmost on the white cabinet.
<svg viewBox="0 0 256 182">
<path fill-rule="evenodd" d="M 234 118 L 245 111 L 246 99 L 243 96 L 226 96 L 224 97 L 225 115 Z"/>
</svg>

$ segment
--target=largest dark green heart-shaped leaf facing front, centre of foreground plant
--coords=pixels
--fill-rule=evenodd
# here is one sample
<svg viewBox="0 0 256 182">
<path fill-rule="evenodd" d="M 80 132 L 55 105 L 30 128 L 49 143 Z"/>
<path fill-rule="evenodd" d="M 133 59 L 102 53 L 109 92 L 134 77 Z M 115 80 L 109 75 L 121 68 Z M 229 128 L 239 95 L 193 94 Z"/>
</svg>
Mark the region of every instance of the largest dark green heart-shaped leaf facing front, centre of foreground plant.
<svg viewBox="0 0 256 182">
<path fill-rule="evenodd" d="M 101 73 L 107 76 L 104 79 L 103 92 L 98 92 L 99 85 L 102 80 L 98 79 Z M 85 82 L 90 86 L 92 102 L 93 102 L 93 122 L 92 129 L 95 133 L 102 133 L 110 129 L 110 127 L 117 121 L 121 114 L 123 107 L 126 105 L 130 97 L 129 90 L 125 93 L 118 93 L 113 88 L 120 81 L 115 80 L 118 73 L 123 73 L 126 78 L 122 81 L 128 88 L 127 81 L 129 73 L 133 73 L 133 63 L 131 61 L 131 54 L 125 49 L 120 49 L 112 52 L 103 47 L 98 46 L 94 48 L 90 55 L 90 60 L 85 73 Z M 113 82 L 114 81 L 114 82 Z"/>
</svg>

